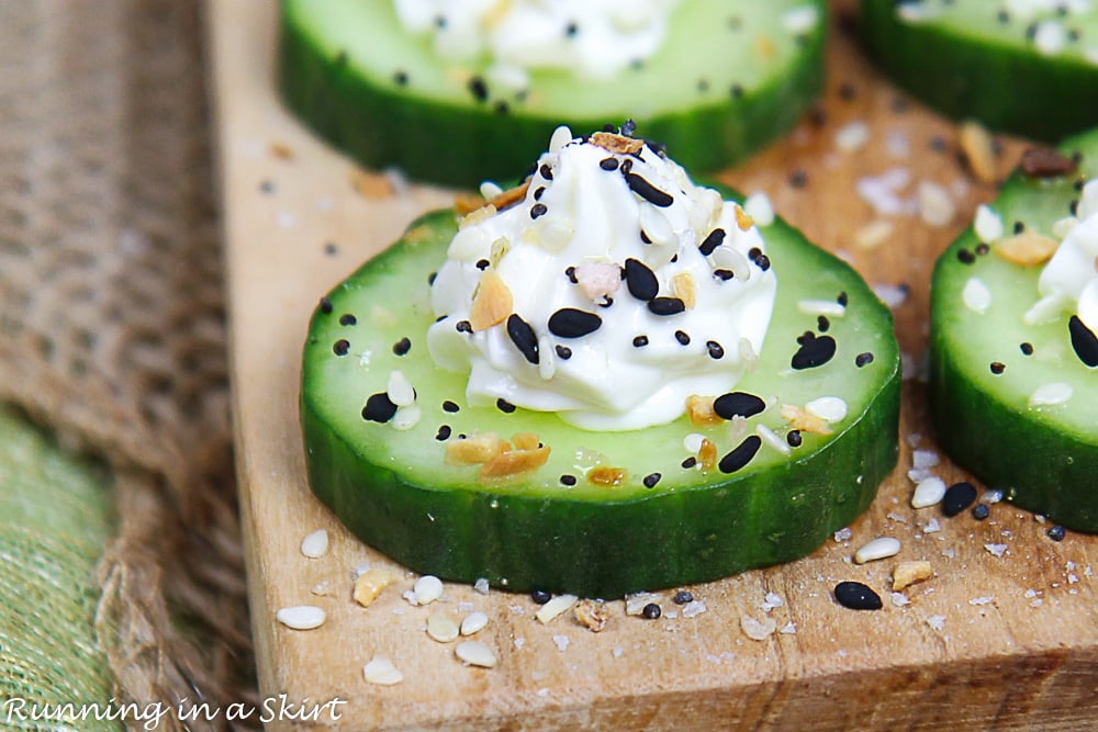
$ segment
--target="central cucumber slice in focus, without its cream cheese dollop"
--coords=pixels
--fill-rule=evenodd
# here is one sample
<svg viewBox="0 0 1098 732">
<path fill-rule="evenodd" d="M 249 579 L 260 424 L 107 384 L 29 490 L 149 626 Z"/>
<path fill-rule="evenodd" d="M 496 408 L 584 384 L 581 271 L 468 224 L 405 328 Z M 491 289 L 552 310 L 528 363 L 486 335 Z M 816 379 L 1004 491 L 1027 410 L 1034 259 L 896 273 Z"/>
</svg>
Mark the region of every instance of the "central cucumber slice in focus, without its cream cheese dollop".
<svg viewBox="0 0 1098 732">
<path fill-rule="evenodd" d="M 439 370 L 426 348 L 428 275 L 455 232 L 448 211 L 414 223 L 322 301 L 304 347 L 310 485 L 354 533 L 406 566 L 592 597 L 713 579 L 808 554 L 869 506 L 894 468 L 900 378 L 892 315 L 850 267 L 786 224 L 762 228 L 777 305 L 758 369 L 737 385 L 761 396 L 763 412 L 626 432 L 466 404 L 466 375 Z M 820 319 L 819 303 L 830 309 L 837 301 L 844 314 Z M 834 346 L 830 359 L 827 348 L 800 345 L 813 336 Z M 795 359 L 802 368 L 792 368 Z M 394 415 L 381 396 L 394 370 L 415 390 L 412 426 L 414 409 Z M 780 405 L 820 396 L 841 397 L 847 416 L 830 435 L 791 436 Z M 367 417 L 388 421 L 363 418 L 363 405 Z M 748 414 L 759 405 L 730 396 L 719 406 Z M 773 435 L 760 437 L 759 426 Z M 548 462 L 512 481 L 447 464 L 448 443 L 484 432 L 533 432 L 550 448 Z M 716 443 L 721 468 L 684 466 L 695 460 L 691 435 Z M 789 442 L 799 446 L 785 454 Z"/>
</svg>

